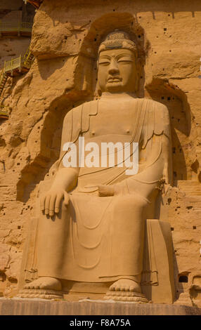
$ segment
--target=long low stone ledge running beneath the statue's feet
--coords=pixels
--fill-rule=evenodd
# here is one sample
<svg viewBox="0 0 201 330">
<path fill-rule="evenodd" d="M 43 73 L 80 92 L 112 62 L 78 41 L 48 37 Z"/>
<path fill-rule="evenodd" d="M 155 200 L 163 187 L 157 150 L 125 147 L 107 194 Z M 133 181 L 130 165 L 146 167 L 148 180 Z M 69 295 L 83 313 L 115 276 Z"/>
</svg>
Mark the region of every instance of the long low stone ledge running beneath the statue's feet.
<svg viewBox="0 0 201 330">
<path fill-rule="evenodd" d="M 0 298 L 0 315 L 201 315 L 185 305 Z"/>
</svg>

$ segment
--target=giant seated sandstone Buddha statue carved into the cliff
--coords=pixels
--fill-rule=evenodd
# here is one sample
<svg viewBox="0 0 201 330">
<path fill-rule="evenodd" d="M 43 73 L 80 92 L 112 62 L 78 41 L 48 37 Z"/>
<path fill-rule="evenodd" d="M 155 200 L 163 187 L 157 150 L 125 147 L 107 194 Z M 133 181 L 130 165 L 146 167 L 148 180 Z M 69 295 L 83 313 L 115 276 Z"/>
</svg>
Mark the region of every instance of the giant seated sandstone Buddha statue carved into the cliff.
<svg viewBox="0 0 201 330">
<path fill-rule="evenodd" d="M 37 279 L 24 293 L 61 296 L 65 279 L 110 282 L 105 298 L 147 301 L 141 292 L 145 226 L 155 219 L 162 187 L 171 183 L 171 133 L 167 107 L 136 96 L 137 60 L 129 34 L 108 34 L 98 48 L 100 98 L 65 116 L 53 183 L 39 196 Z M 87 165 L 86 157 L 82 166 L 65 166 L 72 148 L 64 146 L 73 143 L 78 156 L 79 138 L 84 145 L 138 143 L 137 173 L 127 175 L 126 161 L 118 166 L 116 149 L 113 166 L 101 167 L 101 154 L 99 166 Z"/>
</svg>

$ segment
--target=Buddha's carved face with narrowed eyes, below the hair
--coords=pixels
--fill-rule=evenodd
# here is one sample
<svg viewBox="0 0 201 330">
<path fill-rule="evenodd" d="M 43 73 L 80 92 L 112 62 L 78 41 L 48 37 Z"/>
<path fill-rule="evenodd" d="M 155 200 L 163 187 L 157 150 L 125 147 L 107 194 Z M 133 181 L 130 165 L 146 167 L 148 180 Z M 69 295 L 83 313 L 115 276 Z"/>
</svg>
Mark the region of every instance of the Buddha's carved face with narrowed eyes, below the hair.
<svg viewBox="0 0 201 330">
<path fill-rule="evenodd" d="M 126 48 L 101 51 L 98 58 L 98 83 L 102 92 L 134 92 L 136 89 L 134 52 Z"/>
</svg>

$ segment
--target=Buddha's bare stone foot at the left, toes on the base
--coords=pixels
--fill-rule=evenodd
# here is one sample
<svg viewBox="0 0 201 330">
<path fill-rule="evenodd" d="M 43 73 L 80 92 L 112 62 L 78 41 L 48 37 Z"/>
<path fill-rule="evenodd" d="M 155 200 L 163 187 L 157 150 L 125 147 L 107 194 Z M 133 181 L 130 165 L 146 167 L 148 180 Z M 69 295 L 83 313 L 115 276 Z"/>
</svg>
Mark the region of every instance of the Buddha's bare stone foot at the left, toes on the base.
<svg viewBox="0 0 201 330">
<path fill-rule="evenodd" d="M 25 284 L 24 289 L 20 290 L 20 298 L 63 298 L 62 286 L 58 279 L 53 277 L 39 277 L 34 281 Z"/>
</svg>

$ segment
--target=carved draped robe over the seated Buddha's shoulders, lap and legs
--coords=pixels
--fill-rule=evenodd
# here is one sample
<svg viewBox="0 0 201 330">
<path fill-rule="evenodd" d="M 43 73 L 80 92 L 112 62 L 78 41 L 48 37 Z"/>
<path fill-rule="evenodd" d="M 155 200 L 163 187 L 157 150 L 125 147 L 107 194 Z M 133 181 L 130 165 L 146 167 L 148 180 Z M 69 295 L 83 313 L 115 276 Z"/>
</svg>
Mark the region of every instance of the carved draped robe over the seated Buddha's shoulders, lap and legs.
<svg viewBox="0 0 201 330">
<path fill-rule="evenodd" d="M 140 150 L 148 149 L 152 154 L 153 137 L 160 136 L 157 161 L 163 152 L 164 168 L 171 171 L 169 154 L 171 147 L 169 113 L 167 108 L 153 100 L 134 99 L 133 121 L 129 142 L 139 143 Z M 84 103 L 70 110 L 63 124 L 63 140 L 77 143 L 79 136 L 85 136 L 90 128 L 91 116 L 98 113 L 98 101 Z M 117 132 L 118 133 L 118 132 Z M 163 148 L 162 136 L 169 140 L 169 150 Z M 117 142 L 118 134 L 90 140 Z M 61 151 L 56 171 L 62 164 L 65 153 Z M 152 163 L 152 164 L 153 164 Z M 148 166 L 152 166 L 148 164 Z M 145 170 L 146 166 L 143 166 Z M 167 172 L 161 173 L 166 178 Z M 125 166 L 105 169 L 81 168 L 77 187 L 70 192 L 70 204 L 64 205 L 58 216 L 52 220 L 40 217 L 38 230 L 37 269 L 39 276 L 70 279 L 79 282 L 110 282 L 121 277 L 141 275 L 143 268 L 143 241 L 145 218 L 154 218 L 154 206 L 138 192 L 133 192 L 135 176 L 125 175 Z M 137 179 L 136 179 L 137 180 Z M 155 186 L 160 181 L 156 180 Z M 98 185 L 117 185 L 117 196 L 100 197 Z M 149 185 L 149 182 L 142 182 Z M 126 212 L 119 216 L 121 210 Z M 154 207 L 152 208 L 154 209 Z M 133 216 L 127 220 L 127 210 Z M 117 220 L 118 219 L 118 220 Z"/>
</svg>

